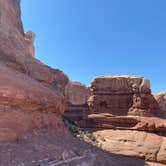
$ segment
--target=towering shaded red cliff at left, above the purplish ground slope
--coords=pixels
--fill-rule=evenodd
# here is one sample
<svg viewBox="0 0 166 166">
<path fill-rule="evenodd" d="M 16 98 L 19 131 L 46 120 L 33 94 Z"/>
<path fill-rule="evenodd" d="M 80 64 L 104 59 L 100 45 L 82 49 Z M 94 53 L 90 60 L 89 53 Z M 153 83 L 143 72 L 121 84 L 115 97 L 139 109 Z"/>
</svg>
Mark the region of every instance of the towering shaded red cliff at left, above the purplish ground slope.
<svg viewBox="0 0 166 166">
<path fill-rule="evenodd" d="M 61 114 L 68 77 L 35 59 L 33 41 L 34 33 L 23 30 L 20 0 L 0 0 L 0 142 L 37 129 L 66 131 Z"/>
</svg>

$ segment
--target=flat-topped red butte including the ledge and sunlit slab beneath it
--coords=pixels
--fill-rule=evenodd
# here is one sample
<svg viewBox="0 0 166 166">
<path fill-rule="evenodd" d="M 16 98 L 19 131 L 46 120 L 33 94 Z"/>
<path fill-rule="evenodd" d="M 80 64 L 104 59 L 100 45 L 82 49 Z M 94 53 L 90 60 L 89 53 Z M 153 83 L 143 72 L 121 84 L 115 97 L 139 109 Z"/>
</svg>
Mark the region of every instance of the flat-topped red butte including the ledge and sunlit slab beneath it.
<svg viewBox="0 0 166 166">
<path fill-rule="evenodd" d="M 156 101 L 148 79 L 97 77 L 89 90 L 89 108 L 77 114 L 79 118 L 68 118 L 94 131 L 104 150 L 166 164 L 166 119 L 160 110 L 164 95 L 160 95 L 162 104 L 159 96 Z"/>
</svg>

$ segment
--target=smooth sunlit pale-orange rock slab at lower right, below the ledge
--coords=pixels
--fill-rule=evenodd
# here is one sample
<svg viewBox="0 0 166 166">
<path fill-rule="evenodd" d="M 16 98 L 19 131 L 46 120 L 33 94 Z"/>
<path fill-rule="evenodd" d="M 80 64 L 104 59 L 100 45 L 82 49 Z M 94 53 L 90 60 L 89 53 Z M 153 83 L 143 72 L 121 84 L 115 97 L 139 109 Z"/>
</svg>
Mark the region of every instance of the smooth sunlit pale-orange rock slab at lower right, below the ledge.
<svg viewBox="0 0 166 166">
<path fill-rule="evenodd" d="M 130 130 L 103 130 L 94 135 L 107 151 L 166 164 L 165 137 Z"/>
</svg>

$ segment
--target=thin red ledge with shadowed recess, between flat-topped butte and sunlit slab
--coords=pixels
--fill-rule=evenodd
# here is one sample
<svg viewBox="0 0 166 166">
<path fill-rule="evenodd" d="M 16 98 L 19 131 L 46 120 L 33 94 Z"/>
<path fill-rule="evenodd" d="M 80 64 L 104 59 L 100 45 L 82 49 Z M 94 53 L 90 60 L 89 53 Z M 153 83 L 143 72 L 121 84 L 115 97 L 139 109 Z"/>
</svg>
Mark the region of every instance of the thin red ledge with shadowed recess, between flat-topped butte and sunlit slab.
<svg viewBox="0 0 166 166">
<path fill-rule="evenodd" d="M 166 120 L 157 117 L 112 116 L 111 114 L 91 114 L 78 121 L 83 128 L 138 130 L 166 136 Z"/>
</svg>

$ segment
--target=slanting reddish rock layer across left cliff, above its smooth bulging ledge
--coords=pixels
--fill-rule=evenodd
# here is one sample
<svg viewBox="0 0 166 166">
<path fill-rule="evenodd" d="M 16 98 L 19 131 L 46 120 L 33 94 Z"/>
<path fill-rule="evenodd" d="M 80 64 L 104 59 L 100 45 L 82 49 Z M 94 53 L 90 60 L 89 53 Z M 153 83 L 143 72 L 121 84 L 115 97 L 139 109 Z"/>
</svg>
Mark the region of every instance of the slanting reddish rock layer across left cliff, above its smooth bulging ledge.
<svg viewBox="0 0 166 166">
<path fill-rule="evenodd" d="M 0 53 L 0 64 L 4 64 L 14 70 L 24 73 L 44 86 L 57 90 L 64 95 L 68 77 L 58 69 L 52 69 L 42 64 L 33 57 L 16 58 L 15 56 Z"/>
</svg>

